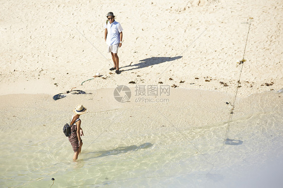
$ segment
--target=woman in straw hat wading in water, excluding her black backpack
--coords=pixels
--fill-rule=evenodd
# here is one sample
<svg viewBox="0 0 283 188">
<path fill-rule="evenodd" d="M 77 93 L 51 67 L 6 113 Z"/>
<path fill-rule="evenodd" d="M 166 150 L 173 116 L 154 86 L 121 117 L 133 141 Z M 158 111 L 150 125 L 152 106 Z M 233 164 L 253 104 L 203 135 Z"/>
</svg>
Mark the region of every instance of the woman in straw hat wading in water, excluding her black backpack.
<svg viewBox="0 0 283 188">
<path fill-rule="evenodd" d="M 85 114 L 86 110 L 87 109 L 83 105 L 78 105 L 74 109 L 75 114 L 72 116 L 72 120 L 70 122 L 71 135 L 68 138 L 75 152 L 73 157 L 74 161 L 78 159 L 78 156 L 81 153 L 83 146 L 81 136 L 84 136 L 84 132 L 81 128 L 82 121 L 80 120 L 80 115 Z"/>
</svg>

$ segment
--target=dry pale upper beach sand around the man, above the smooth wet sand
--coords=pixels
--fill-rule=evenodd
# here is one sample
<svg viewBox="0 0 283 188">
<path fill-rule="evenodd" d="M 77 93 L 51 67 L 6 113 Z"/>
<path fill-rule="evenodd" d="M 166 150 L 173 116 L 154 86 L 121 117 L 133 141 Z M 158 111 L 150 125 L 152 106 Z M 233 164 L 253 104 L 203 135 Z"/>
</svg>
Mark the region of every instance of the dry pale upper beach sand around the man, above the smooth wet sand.
<svg viewBox="0 0 283 188">
<path fill-rule="evenodd" d="M 239 95 L 280 89 L 282 3 L 199 2 L 2 2 L 1 94 L 114 88 L 129 81 L 234 93 L 245 45 Z M 109 74 L 104 22 L 110 11 L 124 29 L 121 75 Z M 81 85 L 96 72 L 106 79 Z"/>
</svg>

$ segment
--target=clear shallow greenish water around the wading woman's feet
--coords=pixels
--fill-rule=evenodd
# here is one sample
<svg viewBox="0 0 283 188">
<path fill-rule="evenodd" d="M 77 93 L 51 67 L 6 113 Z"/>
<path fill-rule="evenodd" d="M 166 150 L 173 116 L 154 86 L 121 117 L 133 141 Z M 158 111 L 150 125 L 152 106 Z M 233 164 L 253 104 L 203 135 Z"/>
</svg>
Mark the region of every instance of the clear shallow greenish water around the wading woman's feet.
<svg viewBox="0 0 283 188">
<path fill-rule="evenodd" d="M 86 114 L 83 123 L 95 119 L 104 132 L 85 126 L 77 162 L 72 161 L 67 138 L 57 134 L 61 126 L 33 125 L 24 133 L 6 132 L 0 147 L 0 186 L 50 187 L 52 177 L 52 187 L 253 187 L 260 180 L 264 185 L 282 174 L 283 161 L 282 101 L 269 103 L 264 98 L 254 99 L 258 105 L 253 109 L 241 110 L 239 102 L 230 122 L 215 117 L 215 122 L 194 127 L 182 121 L 186 114 L 176 121 L 162 118 L 155 111 L 158 105 Z M 171 109 L 162 113 L 182 108 L 168 106 Z M 129 115 L 134 119 L 128 121 Z M 115 117 L 124 121 L 117 125 L 106 121 Z M 225 144 L 228 126 L 227 138 L 232 141 Z M 268 170 L 270 177 L 265 175 Z"/>
</svg>

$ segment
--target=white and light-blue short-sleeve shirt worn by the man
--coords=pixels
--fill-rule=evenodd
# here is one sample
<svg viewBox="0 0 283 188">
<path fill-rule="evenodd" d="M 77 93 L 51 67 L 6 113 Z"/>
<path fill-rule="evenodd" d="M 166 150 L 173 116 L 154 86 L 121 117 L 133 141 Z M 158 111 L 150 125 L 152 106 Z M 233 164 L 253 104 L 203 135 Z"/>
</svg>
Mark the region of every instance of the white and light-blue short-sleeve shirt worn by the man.
<svg viewBox="0 0 283 188">
<path fill-rule="evenodd" d="M 112 46 L 114 44 L 120 43 L 120 33 L 123 31 L 122 26 L 120 23 L 114 21 L 112 24 L 110 22 L 105 23 L 105 29 L 107 29 L 107 37 L 106 37 L 106 43 L 109 46 Z"/>
</svg>

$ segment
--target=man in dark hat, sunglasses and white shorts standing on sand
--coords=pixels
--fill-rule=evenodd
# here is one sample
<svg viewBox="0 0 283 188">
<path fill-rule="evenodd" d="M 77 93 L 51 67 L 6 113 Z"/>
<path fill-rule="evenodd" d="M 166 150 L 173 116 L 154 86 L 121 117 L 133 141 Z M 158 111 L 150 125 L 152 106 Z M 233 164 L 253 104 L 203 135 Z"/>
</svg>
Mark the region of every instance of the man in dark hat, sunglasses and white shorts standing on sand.
<svg viewBox="0 0 283 188">
<path fill-rule="evenodd" d="M 114 62 L 114 67 L 110 68 L 110 70 L 116 69 L 116 74 L 119 74 L 119 57 L 117 53 L 118 48 L 122 46 L 123 28 L 120 23 L 114 20 L 115 16 L 112 12 L 109 12 L 106 17 L 108 20 L 105 23 L 104 39 L 108 45 L 108 52 L 111 52 L 112 60 Z"/>
</svg>

